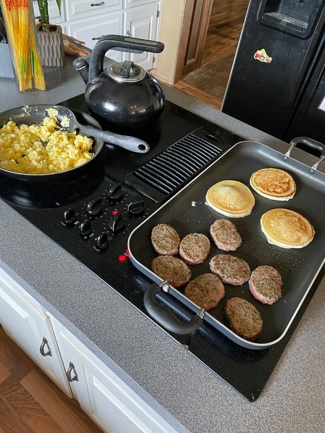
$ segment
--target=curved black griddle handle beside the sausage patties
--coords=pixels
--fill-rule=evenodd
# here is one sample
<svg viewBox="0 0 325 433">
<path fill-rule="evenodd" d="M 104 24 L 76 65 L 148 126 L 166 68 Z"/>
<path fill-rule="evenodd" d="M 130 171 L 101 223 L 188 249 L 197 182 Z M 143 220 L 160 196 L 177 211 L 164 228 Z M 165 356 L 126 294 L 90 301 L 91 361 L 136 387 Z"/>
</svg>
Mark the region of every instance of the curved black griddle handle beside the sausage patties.
<svg viewBox="0 0 325 433">
<path fill-rule="evenodd" d="M 200 310 L 196 316 L 192 317 L 192 319 L 188 322 L 181 322 L 177 319 L 175 314 L 168 310 L 165 306 L 158 304 L 155 299 L 156 294 L 159 292 L 160 288 L 164 288 L 165 286 L 169 286 L 167 282 L 163 282 L 161 284 L 152 284 L 147 290 L 145 290 L 144 304 L 145 309 L 149 313 L 149 315 L 155 319 L 160 325 L 165 327 L 168 331 L 173 332 L 174 334 L 191 334 L 197 330 L 198 327 L 202 325 L 204 316 L 204 310 Z"/>
</svg>

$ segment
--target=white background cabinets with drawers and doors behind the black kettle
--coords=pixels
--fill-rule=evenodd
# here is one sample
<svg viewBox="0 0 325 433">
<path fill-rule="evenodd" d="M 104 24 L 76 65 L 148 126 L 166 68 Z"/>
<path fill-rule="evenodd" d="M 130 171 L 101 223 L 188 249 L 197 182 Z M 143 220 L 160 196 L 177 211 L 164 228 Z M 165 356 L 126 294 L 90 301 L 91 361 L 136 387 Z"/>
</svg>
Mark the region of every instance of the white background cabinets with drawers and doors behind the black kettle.
<svg viewBox="0 0 325 433">
<path fill-rule="evenodd" d="M 34 14 L 38 16 L 36 0 L 33 6 Z M 107 34 L 158 39 L 159 7 L 160 0 L 62 0 L 60 13 L 56 0 L 49 0 L 49 16 L 52 24 L 60 24 L 63 34 L 84 40 L 86 47 L 93 49 L 97 40 Z M 153 53 L 109 51 L 107 56 L 116 62 L 132 60 L 146 70 L 154 66 Z"/>
</svg>

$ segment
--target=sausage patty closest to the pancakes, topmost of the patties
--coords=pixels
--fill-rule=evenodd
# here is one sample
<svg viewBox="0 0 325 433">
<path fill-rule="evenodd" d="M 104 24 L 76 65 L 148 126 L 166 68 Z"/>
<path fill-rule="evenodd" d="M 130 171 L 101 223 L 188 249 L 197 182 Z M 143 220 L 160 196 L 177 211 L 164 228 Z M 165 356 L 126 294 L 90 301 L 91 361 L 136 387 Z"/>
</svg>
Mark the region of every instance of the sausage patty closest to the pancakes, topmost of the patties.
<svg viewBox="0 0 325 433">
<path fill-rule="evenodd" d="M 210 227 L 210 235 L 219 249 L 236 251 L 241 246 L 241 235 L 228 219 L 217 219 Z"/>
</svg>

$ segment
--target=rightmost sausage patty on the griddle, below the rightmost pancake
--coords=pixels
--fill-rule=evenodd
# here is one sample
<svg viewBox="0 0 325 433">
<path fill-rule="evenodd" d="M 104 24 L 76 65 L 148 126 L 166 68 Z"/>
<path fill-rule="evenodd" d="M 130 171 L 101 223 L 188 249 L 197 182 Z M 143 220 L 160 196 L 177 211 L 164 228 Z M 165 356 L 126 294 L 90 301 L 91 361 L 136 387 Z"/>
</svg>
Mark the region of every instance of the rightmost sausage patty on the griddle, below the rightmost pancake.
<svg viewBox="0 0 325 433">
<path fill-rule="evenodd" d="M 248 284 L 254 298 L 262 304 L 272 305 L 282 296 L 281 275 L 271 266 L 259 266 L 254 269 Z"/>
</svg>

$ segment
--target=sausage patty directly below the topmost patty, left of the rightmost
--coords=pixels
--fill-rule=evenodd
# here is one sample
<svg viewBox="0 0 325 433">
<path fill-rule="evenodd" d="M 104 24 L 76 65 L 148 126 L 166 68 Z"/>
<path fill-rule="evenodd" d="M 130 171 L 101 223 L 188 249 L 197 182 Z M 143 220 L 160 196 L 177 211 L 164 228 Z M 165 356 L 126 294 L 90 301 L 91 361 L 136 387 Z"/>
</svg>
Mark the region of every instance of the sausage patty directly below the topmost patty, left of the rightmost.
<svg viewBox="0 0 325 433">
<path fill-rule="evenodd" d="M 210 260 L 210 271 L 217 275 L 224 283 L 241 286 L 250 277 L 250 267 L 245 260 L 230 256 L 230 254 L 217 254 Z"/>
</svg>

